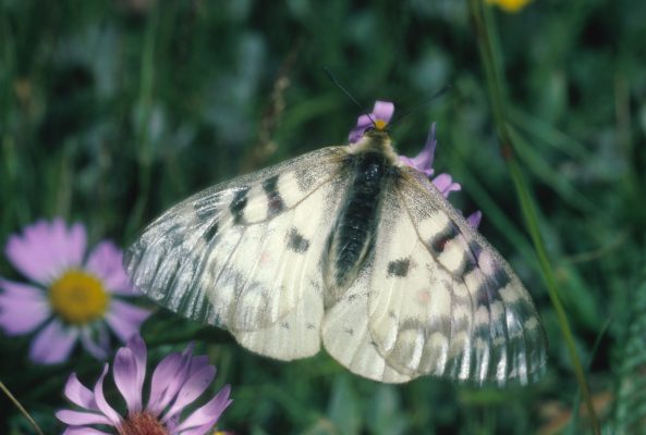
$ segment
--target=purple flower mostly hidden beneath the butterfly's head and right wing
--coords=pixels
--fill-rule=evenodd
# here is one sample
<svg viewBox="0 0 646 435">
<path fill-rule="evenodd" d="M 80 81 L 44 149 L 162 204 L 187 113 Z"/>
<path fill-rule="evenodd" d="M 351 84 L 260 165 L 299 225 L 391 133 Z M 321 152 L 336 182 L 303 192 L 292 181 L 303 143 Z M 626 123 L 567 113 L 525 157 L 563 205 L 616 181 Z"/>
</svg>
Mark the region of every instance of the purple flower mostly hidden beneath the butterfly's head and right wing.
<svg viewBox="0 0 646 435">
<path fill-rule="evenodd" d="M 370 127 L 383 129 L 392 119 L 393 113 L 394 104 L 392 102 L 375 102 L 373 112 L 370 112 L 369 115 L 361 115 L 356 121 L 356 126 L 352 129 L 352 132 L 350 132 L 350 144 L 354 144 L 358 139 L 361 139 L 366 129 Z M 442 194 L 444 198 L 449 198 L 449 194 L 451 194 L 452 191 L 462 190 L 462 186 L 459 183 L 455 183 L 450 174 L 442 173 L 435 177 L 432 176 L 435 174 L 435 170 L 432 169 L 432 161 L 435 158 L 436 147 L 437 140 L 435 138 L 435 123 L 432 123 L 430 125 L 430 130 L 428 132 L 428 137 L 426 138 L 426 144 L 424 145 L 422 151 L 413 158 L 406 156 L 400 156 L 399 158 L 402 163 L 426 175 L 432 182 L 435 187 L 440 191 L 440 194 Z M 477 228 L 480 224 L 482 217 L 483 213 L 478 210 L 475 213 L 471 214 L 468 217 L 466 217 L 466 221 L 471 224 L 471 226 Z"/>
</svg>

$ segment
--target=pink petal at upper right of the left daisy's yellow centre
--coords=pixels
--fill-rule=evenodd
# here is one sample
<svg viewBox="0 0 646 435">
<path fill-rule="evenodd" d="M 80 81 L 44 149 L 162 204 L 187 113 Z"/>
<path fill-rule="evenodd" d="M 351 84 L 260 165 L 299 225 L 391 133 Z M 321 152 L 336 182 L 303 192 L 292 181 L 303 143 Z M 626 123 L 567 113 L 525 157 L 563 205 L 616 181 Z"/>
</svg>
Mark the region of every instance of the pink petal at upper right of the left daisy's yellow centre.
<svg viewBox="0 0 646 435">
<path fill-rule="evenodd" d="M 87 258 L 85 269 L 99 277 L 110 293 L 134 295 L 134 287 L 123 269 L 123 252 L 112 241 L 98 244 Z"/>
</svg>

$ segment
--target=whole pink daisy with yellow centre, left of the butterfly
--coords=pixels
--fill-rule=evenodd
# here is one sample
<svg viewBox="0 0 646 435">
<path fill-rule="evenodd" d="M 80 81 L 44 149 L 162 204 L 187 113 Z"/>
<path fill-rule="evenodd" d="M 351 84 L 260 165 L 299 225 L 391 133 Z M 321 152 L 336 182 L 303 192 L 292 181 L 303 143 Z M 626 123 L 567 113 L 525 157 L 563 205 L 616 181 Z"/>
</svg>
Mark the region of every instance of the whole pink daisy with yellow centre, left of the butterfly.
<svg viewBox="0 0 646 435">
<path fill-rule="evenodd" d="M 5 254 L 32 283 L 0 277 L 0 328 L 9 336 L 38 331 L 29 358 L 65 361 L 77 341 L 105 359 L 111 330 L 122 341 L 139 331 L 150 311 L 119 299 L 134 296 L 122 252 L 103 240 L 86 256 L 85 227 L 61 219 L 38 221 L 9 238 Z"/>
</svg>

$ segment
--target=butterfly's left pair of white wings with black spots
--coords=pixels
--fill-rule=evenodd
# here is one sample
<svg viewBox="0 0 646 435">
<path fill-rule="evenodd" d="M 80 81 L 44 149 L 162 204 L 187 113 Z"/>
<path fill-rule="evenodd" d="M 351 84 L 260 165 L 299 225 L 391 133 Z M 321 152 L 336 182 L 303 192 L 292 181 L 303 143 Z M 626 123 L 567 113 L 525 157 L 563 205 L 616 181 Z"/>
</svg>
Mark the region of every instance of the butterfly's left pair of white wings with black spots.
<svg viewBox="0 0 646 435">
<path fill-rule="evenodd" d="M 320 258 L 344 189 L 343 148 L 325 148 L 203 190 L 126 251 L 137 288 L 279 359 L 316 353 Z"/>
</svg>

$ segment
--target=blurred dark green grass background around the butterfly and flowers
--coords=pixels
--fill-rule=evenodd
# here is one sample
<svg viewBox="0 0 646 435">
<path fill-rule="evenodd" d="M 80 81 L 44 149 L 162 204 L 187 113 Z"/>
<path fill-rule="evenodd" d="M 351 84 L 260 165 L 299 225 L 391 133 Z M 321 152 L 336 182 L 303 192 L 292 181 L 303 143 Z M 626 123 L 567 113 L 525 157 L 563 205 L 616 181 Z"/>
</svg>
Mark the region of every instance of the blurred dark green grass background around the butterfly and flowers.
<svg viewBox="0 0 646 435">
<path fill-rule="evenodd" d="M 0 9 L 0 240 L 39 217 L 87 225 L 122 247 L 198 189 L 322 146 L 344 144 L 358 110 L 398 113 L 452 89 L 393 129 L 414 156 L 437 122 L 436 169 L 463 186 L 465 213 L 532 293 L 550 348 L 541 382 L 472 388 L 424 377 L 403 386 L 351 375 L 325 351 L 281 363 L 222 331 L 159 311 L 154 355 L 196 339 L 232 384 L 219 427 L 239 434 L 586 433 L 585 413 L 496 138 L 465 1 L 20 1 Z M 487 9 L 517 157 L 540 208 L 560 296 L 607 433 L 645 422 L 646 2 L 536 0 Z M 5 259 L 0 275 L 16 277 Z M 146 302 L 144 302 L 146 303 Z M 78 352 L 39 368 L 28 337 L 0 337 L 0 378 L 46 433 L 60 432 Z M 153 358 L 154 359 L 154 358 Z M 638 391 L 638 389 L 637 389 Z M 643 394 L 641 396 L 644 396 Z M 0 399 L 0 432 L 28 433 Z M 639 412 L 641 410 L 641 412 Z M 571 419 L 572 418 L 572 419 Z M 641 423 L 639 423 L 641 422 Z"/>
</svg>

